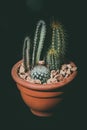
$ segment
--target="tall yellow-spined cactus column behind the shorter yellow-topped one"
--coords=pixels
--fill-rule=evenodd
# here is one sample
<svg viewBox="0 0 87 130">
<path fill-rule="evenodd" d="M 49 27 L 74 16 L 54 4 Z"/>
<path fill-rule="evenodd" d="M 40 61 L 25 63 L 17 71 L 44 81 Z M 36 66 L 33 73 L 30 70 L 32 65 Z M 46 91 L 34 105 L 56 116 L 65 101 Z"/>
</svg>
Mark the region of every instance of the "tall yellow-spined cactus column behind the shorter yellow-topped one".
<svg viewBox="0 0 87 130">
<path fill-rule="evenodd" d="M 65 33 L 62 25 L 60 23 L 53 22 L 53 41 L 54 46 L 57 48 L 58 57 L 64 58 L 65 50 L 66 50 L 66 43 L 65 43 Z"/>
</svg>

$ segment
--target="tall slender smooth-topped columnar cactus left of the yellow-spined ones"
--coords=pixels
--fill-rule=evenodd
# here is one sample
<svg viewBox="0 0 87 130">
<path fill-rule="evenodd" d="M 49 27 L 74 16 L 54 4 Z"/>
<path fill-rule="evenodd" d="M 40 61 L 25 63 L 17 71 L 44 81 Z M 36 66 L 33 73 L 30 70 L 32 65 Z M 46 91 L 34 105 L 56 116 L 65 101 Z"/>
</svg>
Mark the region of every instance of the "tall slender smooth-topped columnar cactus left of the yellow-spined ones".
<svg viewBox="0 0 87 130">
<path fill-rule="evenodd" d="M 46 24 L 43 20 L 40 20 L 37 23 L 35 31 L 33 54 L 32 54 L 32 66 L 37 64 L 40 60 L 45 35 L 46 35 Z"/>
</svg>

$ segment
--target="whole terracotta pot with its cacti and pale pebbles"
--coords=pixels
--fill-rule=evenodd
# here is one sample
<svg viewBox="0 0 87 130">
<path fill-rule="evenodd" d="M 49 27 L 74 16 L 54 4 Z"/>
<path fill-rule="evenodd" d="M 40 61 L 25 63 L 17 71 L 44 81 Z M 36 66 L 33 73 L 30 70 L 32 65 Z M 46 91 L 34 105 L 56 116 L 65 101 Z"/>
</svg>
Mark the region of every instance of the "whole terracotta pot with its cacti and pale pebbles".
<svg viewBox="0 0 87 130">
<path fill-rule="evenodd" d="M 22 60 L 11 71 L 25 104 L 33 114 L 45 117 L 54 114 L 55 108 L 63 100 L 63 88 L 77 74 L 74 62 L 65 59 L 63 26 L 53 21 L 50 28 L 51 39 L 48 44 L 45 41 L 48 35 L 46 23 L 44 20 L 38 21 L 33 42 L 29 36 L 25 37 Z"/>
</svg>

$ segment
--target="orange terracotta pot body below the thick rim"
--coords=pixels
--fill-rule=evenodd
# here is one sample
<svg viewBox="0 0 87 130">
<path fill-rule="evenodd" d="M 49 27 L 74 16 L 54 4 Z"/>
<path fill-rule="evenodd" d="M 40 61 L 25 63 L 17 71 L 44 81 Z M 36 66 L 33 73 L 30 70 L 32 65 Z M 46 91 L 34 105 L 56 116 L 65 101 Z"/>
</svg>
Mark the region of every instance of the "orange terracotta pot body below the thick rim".
<svg viewBox="0 0 87 130">
<path fill-rule="evenodd" d="M 17 84 L 21 92 L 21 96 L 31 111 L 38 116 L 50 116 L 53 114 L 53 109 L 61 102 L 59 96 L 63 92 L 57 91 L 37 91 L 25 88 Z M 49 111 L 50 110 L 50 111 Z"/>
</svg>

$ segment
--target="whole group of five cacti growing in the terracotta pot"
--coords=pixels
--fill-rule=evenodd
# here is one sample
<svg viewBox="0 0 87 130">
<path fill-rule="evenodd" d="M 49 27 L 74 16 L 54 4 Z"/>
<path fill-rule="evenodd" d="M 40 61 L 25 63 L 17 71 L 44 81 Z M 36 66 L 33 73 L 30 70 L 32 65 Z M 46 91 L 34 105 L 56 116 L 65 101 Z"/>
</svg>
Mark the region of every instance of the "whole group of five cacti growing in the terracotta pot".
<svg viewBox="0 0 87 130">
<path fill-rule="evenodd" d="M 45 52 L 45 65 L 38 64 L 41 60 L 41 52 L 46 36 L 46 23 L 43 20 L 40 20 L 36 26 L 33 52 L 30 53 L 31 43 L 29 37 L 25 38 L 23 45 L 23 64 L 25 72 L 30 71 L 31 78 L 39 79 L 41 83 L 45 83 L 47 79 L 50 78 L 51 70 L 59 69 L 65 55 L 66 44 L 62 25 L 58 22 L 53 22 L 51 27 L 52 41 L 50 41 L 48 51 Z"/>
</svg>

